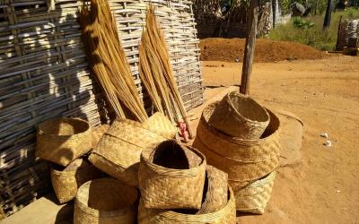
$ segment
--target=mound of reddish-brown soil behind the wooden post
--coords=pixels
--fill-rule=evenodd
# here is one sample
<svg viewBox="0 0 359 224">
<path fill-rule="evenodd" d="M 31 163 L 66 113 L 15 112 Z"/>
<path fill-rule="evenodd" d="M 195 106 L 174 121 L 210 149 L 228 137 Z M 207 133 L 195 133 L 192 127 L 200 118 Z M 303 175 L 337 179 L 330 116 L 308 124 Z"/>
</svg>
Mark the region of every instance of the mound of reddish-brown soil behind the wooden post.
<svg viewBox="0 0 359 224">
<path fill-rule="evenodd" d="M 246 39 L 201 39 L 202 61 L 243 61 Z M 255 62 L 276 62 L 298 59 L 320 59 L 328 56 L 313 47 L 295 42 L 257 39 Z"/>
</svg>

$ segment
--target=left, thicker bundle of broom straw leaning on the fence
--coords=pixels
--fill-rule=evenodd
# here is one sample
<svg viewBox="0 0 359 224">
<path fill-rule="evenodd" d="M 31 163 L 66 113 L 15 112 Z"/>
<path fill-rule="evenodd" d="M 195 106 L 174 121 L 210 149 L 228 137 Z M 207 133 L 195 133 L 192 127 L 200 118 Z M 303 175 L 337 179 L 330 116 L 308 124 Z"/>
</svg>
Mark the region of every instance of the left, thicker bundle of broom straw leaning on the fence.
<svg viewBox="0 0 359 224">
<path fill-rule="evenodd" d="M 116 22 L 110 12 L 108 0 L 90 0 L 90 3 L 83 5 L 80 22 L 92 73 L 96 75 L 118 117 L 127 116 L 122 108 L 125 106 L 125 111 L 143 122 L 147 114 L 118 39 Z"/>
</svg>

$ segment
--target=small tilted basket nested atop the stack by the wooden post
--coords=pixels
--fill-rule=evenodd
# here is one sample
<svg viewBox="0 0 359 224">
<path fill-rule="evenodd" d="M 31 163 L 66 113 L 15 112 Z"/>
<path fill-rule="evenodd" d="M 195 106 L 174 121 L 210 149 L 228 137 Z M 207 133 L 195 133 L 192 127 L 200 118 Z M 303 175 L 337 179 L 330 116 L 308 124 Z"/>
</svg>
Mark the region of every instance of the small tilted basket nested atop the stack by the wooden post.
<svg viewBox="0 0 359 224">
<path fill-rule="evenodd" d="M 216 105 L 209 124 L 241 139 L 259 139 L 269 124 L 267 110 L 250 96 L 232 91 Z"/>
</svg>

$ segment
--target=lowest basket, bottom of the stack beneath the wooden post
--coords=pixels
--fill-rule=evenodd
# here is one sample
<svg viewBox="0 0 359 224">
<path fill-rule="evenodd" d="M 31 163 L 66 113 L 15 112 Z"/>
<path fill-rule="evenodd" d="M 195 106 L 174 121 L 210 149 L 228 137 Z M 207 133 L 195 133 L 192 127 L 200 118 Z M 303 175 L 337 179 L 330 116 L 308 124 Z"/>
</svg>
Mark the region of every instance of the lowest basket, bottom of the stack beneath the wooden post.
<svg viewBox="0 0 359 224">
<path fill-rule="evenodd" d="M 236 183 L 230 180 L 237 211 L 263 214 L 272 194 L 275 177 L 276 171 L 244 187 L 236 186 Z"/>
</svg>

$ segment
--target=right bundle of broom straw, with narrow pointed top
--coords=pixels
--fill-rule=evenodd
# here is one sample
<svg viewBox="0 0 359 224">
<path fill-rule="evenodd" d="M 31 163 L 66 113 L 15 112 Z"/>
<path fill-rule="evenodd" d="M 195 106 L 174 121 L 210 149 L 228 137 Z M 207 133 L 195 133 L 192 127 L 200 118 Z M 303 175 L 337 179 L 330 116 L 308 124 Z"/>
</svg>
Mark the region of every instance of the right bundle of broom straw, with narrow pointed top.
<svg viewBox="0 0 359 224">
<path fill-rule="evenodd" d="M 139 47 L 139 71 L 154 108 L 168 116 L 172 123 L 185 122 L 190 138 L 188 116 L 174 80 L 170 56 L 162 30 L 158 28 L 154 7 L 147 8 L 146 28 Z"/>
</svg>

